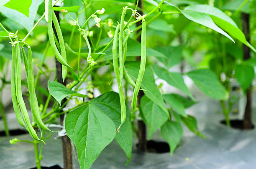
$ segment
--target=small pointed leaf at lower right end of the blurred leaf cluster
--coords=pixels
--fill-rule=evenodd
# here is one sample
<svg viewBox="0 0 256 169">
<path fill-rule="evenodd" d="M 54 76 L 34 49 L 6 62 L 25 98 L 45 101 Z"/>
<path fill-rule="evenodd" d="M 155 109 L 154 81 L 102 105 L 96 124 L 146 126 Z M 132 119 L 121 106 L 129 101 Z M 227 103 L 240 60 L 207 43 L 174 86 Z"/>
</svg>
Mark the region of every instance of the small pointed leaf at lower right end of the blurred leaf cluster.
<svg viewBox="0 0 256 169">
<path fill-rule="evenodd" d="M 206 139 L 206 137 L 201 134 L 197 128 L 197 119 L 195 117 L 188 115 L 187 117 L 182 117 L 182 122 L 188 127 L 188 129 L 197 134 L 198 136 Z"/>
</svg>

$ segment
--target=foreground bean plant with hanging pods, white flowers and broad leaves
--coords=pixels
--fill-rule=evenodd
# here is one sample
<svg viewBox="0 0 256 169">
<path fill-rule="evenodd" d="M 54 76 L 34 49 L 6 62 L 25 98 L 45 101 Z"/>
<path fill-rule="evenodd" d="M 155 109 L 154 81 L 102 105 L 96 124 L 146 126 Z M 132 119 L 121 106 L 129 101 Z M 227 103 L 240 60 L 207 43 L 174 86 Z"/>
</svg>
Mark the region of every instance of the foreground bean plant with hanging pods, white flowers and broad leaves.
<svg viewBox="0 0 256 169">
<path fill-rule="evenodd" d="M 174 5 L 164 0 L 143 2 L 144 8 L 138 6 L 139 0 L 0 2 L 1 15 L 6 17 L 0 22 L 2 45 L 5 50 L 10 48 L 7 53 L 11 55 L 5 59 L 11 60 L 10 82 L 6 80 L 5 73 L 8 66 L 4 66 L 8 61 L 4 63 L 1 60 L 2 86 L 11 84 L 18 123 L 31 136 L 28 140 L 15 138 L 10 143 L 33 144 L 37 169 L 41 169 L 42 150 L 47 146 L 47 139 L 52 132 L 60 130 L 53 124 L 58 123 L 56 119 L 61 114 L 65 114 L 62 127 L 77 149 L 81 169 L 89 169 L 113 139 L 130 161 L 133 132 L 138 133 L 139 130 L 135 126 L 138 118 L 148 127 L 148 139 L 160 128 L 171 155 L 182 139 L 182 123 L 205 138 L 197 128 L 196 118 L 185 112 L 197 100 L 184 83 L 184 75 L 211 98 L 221 102 L 230 99 L 230 86 L 225 85 L 225 81 L 220 82 L 220 73 L 215 71 L 220 64 L 214 60 L 210 68 L 182 73 L 169 71 L 181 62 L 181 54 L 175 52 L 181 49 L 182 42 L 176 47 L 171 46 L 171 42 L 177 36 L 182 37 L 185 26 L 179 26 L 191 22 L 206 32 L 215 31 L 207 36 L 218 36 L 216 43 L 234 43 L 236 39 L 236 42 L 256 52 L 236 22 L 206 0 L 195 1 L 194 5 Z M 168 18 L 176 20 L 176 30 L 166 22 L 163 24 L 163 20 Z M 20 25 L 15 27 L 13 22 Z M 147 39 L 151 38 L 152 30 L 159 36 L 167 32 L 165 39 L 168 43 L 165 46 L 161 43 L 154 45 L 153 40 Z M 41 32 L 47 34 L 43 40 L 38 39 L 37 34 L 42 35 Z M 226 59 L 223 51 L 221 57 Z M 38 53 L 44 53 L 39 54 L 41 59 L 38 59 Z M 61 71 L 57 67 L 50 68 L 48 60 L 46 62 L 52 56 L 55 56 L 56 63 L 61 64 Z M 36 66 L 38 72 L 34 73 Z M 102 71 L 104 74 L 100 75 Z M 243 68 L 235 68 L 235 71 L 243 72 Z M 22 78 L 22 72 L 26 73 L 26 79 Z M 221 72 L 229 77 L 230 70 Z M 48 90 L 40 83 L 43 78 L 48 80 Z M 164 92 L 161 85 L 156 85 L 158 79 L 176 87 L 182 94 Z M 86 92 L 83 93 L 82 89 Z M 100 92 L 99 96 L 95 95 L 96 91 Z M 143 92 L 142 97 L 138 97 L 140 91 Z M 30 109 L 25 104 L 24 95 L 28 95 Z M 70 106 L 72 102 L 75 105 Z M 2 108 L 0 111 L 5 119 Z M 8 135 L 7 123 L 5 126 Z"/>
</svg>

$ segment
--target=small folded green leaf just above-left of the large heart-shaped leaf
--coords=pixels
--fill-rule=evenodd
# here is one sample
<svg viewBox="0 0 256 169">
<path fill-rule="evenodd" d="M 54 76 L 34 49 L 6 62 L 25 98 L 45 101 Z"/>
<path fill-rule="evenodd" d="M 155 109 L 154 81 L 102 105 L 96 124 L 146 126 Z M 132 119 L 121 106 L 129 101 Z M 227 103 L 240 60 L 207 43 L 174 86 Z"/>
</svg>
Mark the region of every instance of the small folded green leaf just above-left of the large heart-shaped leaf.
<svg viewBox="0 0 256 169">
<path fill-rule="evenodd" d="M 49 93 L 54 97 L 54 99 L 61 104 L 61 100 L 67 96 L 77 96 L 77 97 L 87 97 L 87 95 L 80 94 L 68 89 L 66 86 L 59 82 L 49 81 L 48 82 Z"/>
</svg>

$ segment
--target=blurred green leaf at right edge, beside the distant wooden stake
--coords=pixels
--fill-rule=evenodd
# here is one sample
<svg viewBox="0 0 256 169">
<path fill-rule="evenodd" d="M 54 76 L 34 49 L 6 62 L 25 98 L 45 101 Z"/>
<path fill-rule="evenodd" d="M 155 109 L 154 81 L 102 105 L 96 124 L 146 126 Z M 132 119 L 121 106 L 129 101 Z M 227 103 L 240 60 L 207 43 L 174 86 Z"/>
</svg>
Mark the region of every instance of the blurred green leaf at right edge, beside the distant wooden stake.
<svg viewBox="0 0 256 169">
<path fill-rule="evenodd" d="M 246 93 L 246 89 L 251 85 L 254 79 L 254 69 L 251 65 L 236 65 L 235 66 L 236 80 Z"/>
</svg>

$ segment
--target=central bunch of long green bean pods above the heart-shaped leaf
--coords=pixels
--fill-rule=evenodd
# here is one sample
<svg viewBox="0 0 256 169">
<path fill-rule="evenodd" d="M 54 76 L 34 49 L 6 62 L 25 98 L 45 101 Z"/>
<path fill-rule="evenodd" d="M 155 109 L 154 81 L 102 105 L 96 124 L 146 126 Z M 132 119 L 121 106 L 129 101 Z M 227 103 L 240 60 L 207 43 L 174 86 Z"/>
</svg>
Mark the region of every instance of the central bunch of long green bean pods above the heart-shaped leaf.
<svg viewBox="0 0 256 169">
<path fill-rule="evenodd" d="M 123 86 L 122 86 L 123 76 L 125 77 L 127 82 L 130 83 L 130 85 L 132 87 L 134 87 L 133 99 L 132 99 L 132 109 L 134 112 L 134 110 L 136 109 L 138 92 L 141 87 L 141 82 L 143 79 L 143 75 L 145 72 L 145 66 L 146 66 L 146 21 L 145 21 L 145 19 L 143 19 L 142 20 L 142 30 L 141 30 L 141 64 L 140 64 L 139 74 L 138 74 L 136 83 L 133 81 L 133 79 L 130 77 L 130 75 L 128 75 L 127 71 L 125 70 L 125 60 L 126 60 L 126 54 L 127 54 L 127 41 L 130 36 L 130 33 L 131 33 L 129 30 L 128 33 L 126 34 L 126 32 L 124 30 L 124 16 L 125 16 L 126 9 L 128 9 L 128 8 L 127 7 L 123 8 L 120 24 L 115 29 L 115 35 L 114 35 L 113 47 L 112 47 L 113 67 L 114 67 L 115 77 L 116 77 L 116 80 L 118 83 L 120 106 L 121 106 L 121 124 L 118 127 L 118 129 L 125 122 L 125 118 L 126 118 L 125 98 L 124 98 Z M 144 18 L 144 15 L 141 17 Z M 118 56 L 117 56 L 118 29 L 119 29 L 119 68 L 118 68 Z M 117 129 L 117 132 L 118 132 L 118 129 Z"/>
</svg>

